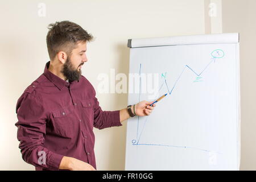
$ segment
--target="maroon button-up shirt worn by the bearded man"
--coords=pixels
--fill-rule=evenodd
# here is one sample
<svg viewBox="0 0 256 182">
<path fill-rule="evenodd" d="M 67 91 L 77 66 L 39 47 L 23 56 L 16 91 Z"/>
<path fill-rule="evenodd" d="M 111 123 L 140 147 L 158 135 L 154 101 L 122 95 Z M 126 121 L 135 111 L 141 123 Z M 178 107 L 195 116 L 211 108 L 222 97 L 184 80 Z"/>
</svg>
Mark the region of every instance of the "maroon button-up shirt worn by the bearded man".
<svg viewBox="0 0 256 182">
<path fill-rule="evenodd" d="M 16 104 L 22 158 L 36 170 L 59 170 L 63 156 L 96 168 L 93 127 L 122 126 L 119 110 L 102 111 L 84 76 L 69 83 L 48 67 L 49 62 Z"/>
</svg>

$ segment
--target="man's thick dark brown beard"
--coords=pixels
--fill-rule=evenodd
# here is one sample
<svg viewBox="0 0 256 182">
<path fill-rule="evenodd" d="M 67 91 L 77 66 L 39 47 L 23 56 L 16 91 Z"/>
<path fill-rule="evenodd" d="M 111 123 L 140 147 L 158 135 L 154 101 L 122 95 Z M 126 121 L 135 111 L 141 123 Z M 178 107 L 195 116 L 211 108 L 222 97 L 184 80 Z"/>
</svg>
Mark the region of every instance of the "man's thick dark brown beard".
<svg viewBox="0 0 256 182">
<path fill-rule="evenodd" d="M 69 82 L 79 80 L 80 76 L 82 75 L 81 69 L 78 70 L 74 68 L 69 58 L 67 58 L 67 61 L 64 63 L 61 73 L 63 73 Z"/>
</svg>

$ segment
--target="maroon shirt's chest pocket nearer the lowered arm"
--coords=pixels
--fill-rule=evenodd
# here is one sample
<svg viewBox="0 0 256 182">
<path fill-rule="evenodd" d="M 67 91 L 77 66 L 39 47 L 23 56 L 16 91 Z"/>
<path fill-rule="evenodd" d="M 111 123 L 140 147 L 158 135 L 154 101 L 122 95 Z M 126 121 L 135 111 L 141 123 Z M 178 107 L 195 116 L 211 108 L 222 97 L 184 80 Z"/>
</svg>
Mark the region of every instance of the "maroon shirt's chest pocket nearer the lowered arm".
<svg viewBox="0 0 256 182">
<path fill-rule="evenodd" d="M 52 126 L 56 134 L 68 138 L 73 136 L 73 133 L 75 133 L 77 129 L 74 112 L 73 106 L 67 106 L 52 111 Z"/>
</svg>

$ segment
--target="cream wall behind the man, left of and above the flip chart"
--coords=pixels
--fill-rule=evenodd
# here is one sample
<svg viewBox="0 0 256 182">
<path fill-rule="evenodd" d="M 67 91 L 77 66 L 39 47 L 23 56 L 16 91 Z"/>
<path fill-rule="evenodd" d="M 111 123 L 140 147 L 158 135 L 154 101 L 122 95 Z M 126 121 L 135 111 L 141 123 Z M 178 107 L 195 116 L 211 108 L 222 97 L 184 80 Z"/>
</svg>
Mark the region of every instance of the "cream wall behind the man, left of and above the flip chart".
<svg viewBox="0 0 256 182">
<path fill-rule="evenodd" d="M 46 16 L 38 16 L 38 4 Z M 97 76 L 115 68 L 129 72 L 127 39 L 204 34 L 204 0 L 1 1 L 0 34 L 0 170 L 34 170 L 23 162 L 16 140 L 15 105 L 23 90 L 38 78 L 48 61 L 47 25 L 71 20 L 92 33 L 88 63 L 82 68 L 97 90 Z M 127 94 L 97 94 L 104 110 L 127 106 Z M 126 122 L 123 127 L 94 130 L 99 170 L 125 167 Z"/>
</svg>

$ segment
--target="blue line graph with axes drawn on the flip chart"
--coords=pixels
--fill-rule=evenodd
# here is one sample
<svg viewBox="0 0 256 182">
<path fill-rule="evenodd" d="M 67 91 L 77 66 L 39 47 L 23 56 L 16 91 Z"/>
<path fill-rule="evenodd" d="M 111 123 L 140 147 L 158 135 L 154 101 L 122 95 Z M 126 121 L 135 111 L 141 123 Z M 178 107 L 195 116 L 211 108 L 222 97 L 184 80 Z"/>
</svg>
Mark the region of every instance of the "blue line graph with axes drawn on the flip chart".
<svg viewBox="0 0 256 182">
<path fill-rule="evenodd" d="M 206 67 L 203 69 L 203 71 L 201 71 L 200 73 L 197 73 L 196 71 L 194 71 L 194 69 L 192 69 L 191 67 L 189 67 L 189 65 L 186 64 L 183 68 L 183 71 L 180 73 L 179 77 L 175 81 L 174 86 L 172 86 L 171 90 L 169 89 L 168 84 L 167 84 L 166 73 L 165 74 L 162 73 L 162 78 L 164 78 L 164 81 L 163 81 L 162 85 L 160 86 L 158 92 L 160 92 L 160 90 L 163 88 L 163 85 L 165 84 L 167 89 L 168 89 L 168 94 L 171 95 L 172 92 L 175 89 L 175 86 L 176 86 L 177 82 L 179 82 L 181 76 L 183 75 L 183 73 L 186 69 L 189 70 L 189 71 L 192 71 L 197 76 L 197 78 L 194 82 L 202 81 L 202 80 L 200 80 L 202 78 L 201 75 L 203 75 L 203 73 L 207 70 L 209 65 L 212 64 L 212 63 L 215 63 L 216 59 L 221 59 L 222 57 L 224 57 L 225 53 L 221 49 L 216 49 L 212 53 L 210 53 L 210 55 L 212 56 L 210 63 L 208 63 L 206 65 Z M 142 64 L 140 64 L 140 66 L 139 66 L 139 102 L 141 101 L 141 69 L 142 69 Z M 220 153 L 220 152 L 216 152 L 216 151 L 204 150 L 204 149 L 201 149 L 201 148 L 195 148 L 195 147 L 189 147 L 189 146 L 171 146 L 171 145 L 166 145 L 166 144 L 139 143 L 139 140 L 141 139 L 141 135 L 143 133 L 145 124 L 147 123 L 147 119 L 148 119 L 148 116 L 146 117 L 146 119 L 144 121 L 144 124 L 143 124 L 143 127 L 142 127 L 142 130 L 141 130 L 141 133 L 139 134 L 139 120 L 140 120 L 140 117 L 138 117 L 138 119 L 137 119 L 137 139 L 132 140 L 133 146 L 176 147 L 176 148 L 185 148 L 185 149 L 188 148 L 188 149 L 199 150 L 199 151 L 204 151 L 204 152 Z"/>
</svg>

